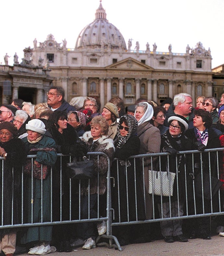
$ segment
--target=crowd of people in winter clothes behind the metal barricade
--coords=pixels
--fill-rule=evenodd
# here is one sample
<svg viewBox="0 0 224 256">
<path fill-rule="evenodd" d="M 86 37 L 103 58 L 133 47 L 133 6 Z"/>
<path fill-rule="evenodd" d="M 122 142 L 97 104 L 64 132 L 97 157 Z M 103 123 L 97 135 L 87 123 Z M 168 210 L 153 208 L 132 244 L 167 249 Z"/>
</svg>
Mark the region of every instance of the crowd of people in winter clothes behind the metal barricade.
<svg viewBox="0 0 224 256">
<path fill-rule="evenodd" d="M 193 193 L 193 181 L 196 182 L 201 170 L 207 180 L 209 174 L 218 178 L 217 169 L 219 176 L 224 176 L 222 151 L 203 152 L 224 145 L 224 94 L 220 103 L 214 97 L 199 96 L 195 108 L 191 95 L 185 93 L 168 98 L 160 105 L 139 98 L 126 109 L 123 100 L 114 97 L 102 106 L 101 113 L 97 97 L 77 97 L 72 105 L 64 97 L 62 87 L 52 86 L 46 103 L 34 106 L 13 99 L 10 105 L 0 106 L 3 225 L 19 224 L 21 219 L 23 223 L 69 220 L 70 192 L 65 172 L 69 156 L 61 159 L 57 153 L 78 158 L 87 152 L 103 152 L 109 157 L 114 178 L 111 187 L 114 222 L 149 220 L 155 214 L 158 218 L 183 216 L 186 197 L 189 213 L 195 214 L 195 201 L 197 214 L 211 211 L 211 198 L 203 197 L 202 203 L 200 193 Z M 178 154 L 195 149 L 203 153 L 195 153 L 194 158 Z M 156 157 L 129 159 L 133 155 L 159 152 L 167 152 L 169 156 L 161 156 L 160 161 Z M 29 155 L 36 157 L 31 159 Z M 82 219 L 98 218 L 99 214 L 106 216 L 108 161 L 103 155 L 92 159 L 95 176 L 81 185 L 71 184 L 76 194 L 72 195 L 75 207 L 78 207 L 77 193 L 81 198 Z M 170 197 L 148 193 L 148 170 L 159 167 L 177 174 Z M 222 189 L 221 183 L 219 187 Z M 23 201 L 21 191 L 24 191 Z M 224 194 L 220 192 L 222 199 Z M 212 197 L 214 211 L 217 193 Z M 75 235 L 69 224 L 1 229 L 0 249 L 7 256 L 14 254 L 16 243 L 26 245 L 29 254 L 37 255 L 55 250 L 69 252 L 77 246 L 91 249 L 96 247 L 96 237 L 106 233 L 105 221 L 75 226 Z M 187 226 L 184 234 L 181 219 L 162 221 L 161 235 L 168 243 L 187 242 L 188 238 L 196 237 L 211 239 L 208 217 L 191 219 Z M 150 241 L 151 229 L 150 224 L 121 225 L 114 227 L 113 234 L 124 245 Z M 224 231 L 222 218 L 218 220 L 217 230 Z"/>
</svg>

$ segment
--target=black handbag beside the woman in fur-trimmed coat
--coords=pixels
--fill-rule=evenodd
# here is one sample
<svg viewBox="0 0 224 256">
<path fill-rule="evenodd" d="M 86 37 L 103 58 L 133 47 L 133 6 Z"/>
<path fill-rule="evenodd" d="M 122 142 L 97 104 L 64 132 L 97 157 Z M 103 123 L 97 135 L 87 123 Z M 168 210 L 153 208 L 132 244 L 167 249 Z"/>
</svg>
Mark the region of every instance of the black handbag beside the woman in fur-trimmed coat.
<svg viewBox="0 0 224 256">
<path fill-rule="evenodd" d="M 73 161 L 67 163 L 67 176 L 71 179 L 86 180 L 94 176 L 94 160 L 89 160 L 84 156 L 83 161 Z"/>
</svg>

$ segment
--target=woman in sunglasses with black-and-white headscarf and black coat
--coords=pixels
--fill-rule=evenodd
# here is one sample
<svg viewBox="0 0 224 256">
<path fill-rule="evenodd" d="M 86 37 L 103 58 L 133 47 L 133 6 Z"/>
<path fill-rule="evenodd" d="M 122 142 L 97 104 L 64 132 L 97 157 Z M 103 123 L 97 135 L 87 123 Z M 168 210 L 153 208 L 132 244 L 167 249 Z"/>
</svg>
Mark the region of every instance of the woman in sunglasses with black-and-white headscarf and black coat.
<svg viewBox="0 0 224 256">
<path fill-rule="evenodd" d="M 129 213 L 129 221 L 144 220 L 146 218 L 143 200 L 144 197 L 142 192 L 143 181 L 140 161 L 139 159 L 136 159 L 135 161 L 134 159 L 128 160 L 130 156 L 139 154 L 140 140 L 136 135 L 137 127 L 138 123 L 134 116 L 124 115 L 119 120 L 117 128 L 117 139 L 114 142 L 114 156 L 119 160 L 113 162 L 111 169 L 111 176 L 113 176 L 115 179 L 115 186 L 112 187 L 112 208 L 114 209 L 115 213 L 115 222 L 119 222 L 118 202 L 120 202 L 120 218 L 122 222 L 127 221 L 127 210 Z M 118 184 L 120 196 L 118 194 Z M 128 187 L 128 207 L 126 186 Z M 135 198 L 137 198 L 137 200 L 135 200 Z M 130 242 L 134 240 L 134 238 L 138 236 L 138 230 L 138 225 L 119 226 L 114 227 L 113 229 L 113 231 L 116 232 L 116 236 L 119 237 L 118 239 L 121 245 L 128 244 L 129 240 Z"/>
</svg>

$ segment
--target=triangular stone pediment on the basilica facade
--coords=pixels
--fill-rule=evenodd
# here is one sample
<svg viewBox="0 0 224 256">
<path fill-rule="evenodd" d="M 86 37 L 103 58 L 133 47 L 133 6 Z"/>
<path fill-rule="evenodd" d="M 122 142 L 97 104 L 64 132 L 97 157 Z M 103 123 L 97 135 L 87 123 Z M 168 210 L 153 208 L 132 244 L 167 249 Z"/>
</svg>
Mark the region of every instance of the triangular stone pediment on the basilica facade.
<svg viewBox="0 0 224 256">
<path fill-rule="evenodd" d="M 117 70 L 154 70 L 150 66 L 133 58 L 126 58 L 119 62 L 113 63 L 107 66 L 106 69 L 117 69 Z"/>
</svg>

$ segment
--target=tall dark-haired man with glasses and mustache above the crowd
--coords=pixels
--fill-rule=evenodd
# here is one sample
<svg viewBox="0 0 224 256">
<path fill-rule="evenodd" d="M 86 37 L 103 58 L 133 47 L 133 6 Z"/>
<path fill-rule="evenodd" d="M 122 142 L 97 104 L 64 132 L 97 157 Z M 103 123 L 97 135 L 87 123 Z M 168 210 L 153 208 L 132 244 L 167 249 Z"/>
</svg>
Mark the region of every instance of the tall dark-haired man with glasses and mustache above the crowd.
<svg viewBox="0 0 224 256">
<path fill-rule="evenodd" d="M 75 107 L 71 106 L 64 99 L 65 90 L 61 86 L 52 86 L 47 92 L 47 104 L 48 107 L 52 110 L 61 110 L 68 113 L 69 111 L 77 110 Z"/>
</svg>

